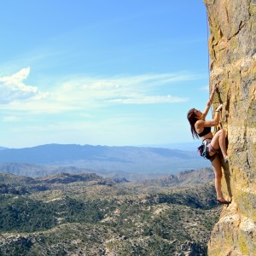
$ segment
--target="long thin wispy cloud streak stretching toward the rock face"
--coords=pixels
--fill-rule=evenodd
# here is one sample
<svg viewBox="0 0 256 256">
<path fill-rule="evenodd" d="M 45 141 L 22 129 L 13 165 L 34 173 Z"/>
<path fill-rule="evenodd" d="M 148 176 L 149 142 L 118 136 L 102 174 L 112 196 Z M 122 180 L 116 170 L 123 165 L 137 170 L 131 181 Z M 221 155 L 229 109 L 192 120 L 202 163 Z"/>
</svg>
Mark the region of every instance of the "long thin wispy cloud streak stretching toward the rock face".
<svg viewBox="0 0 256 256">
<path fill-rule="evenodd" d="M 175 74 L 146 74 L 131 77 L 105 79 L 75 79 L 67 81 L 55 89 L 57 100 L 73 101 L 81 105 L 94 106 L 116 104 L 155 104 L 184 102 L 187 98 L 177 96 L 152 95 L 161 86 L 169 86 L 177 81 L 196 79 L 196 76 Z"/>
</svg>

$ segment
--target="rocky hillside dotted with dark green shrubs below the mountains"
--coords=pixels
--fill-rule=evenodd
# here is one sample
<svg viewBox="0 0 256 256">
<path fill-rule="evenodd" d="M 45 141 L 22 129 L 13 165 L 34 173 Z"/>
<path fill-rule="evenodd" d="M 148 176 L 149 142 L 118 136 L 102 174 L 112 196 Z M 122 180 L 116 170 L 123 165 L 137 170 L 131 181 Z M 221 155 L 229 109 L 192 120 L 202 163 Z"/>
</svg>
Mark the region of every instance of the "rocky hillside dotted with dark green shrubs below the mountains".
<svg viewBox="0 0 256 256">
<path fill-rule="evenodd" d="M 178 189 L 93 173 L 0 181 L 3 256 L 207 255 L 221 209 L 207 181 Z"/>
</svg>

